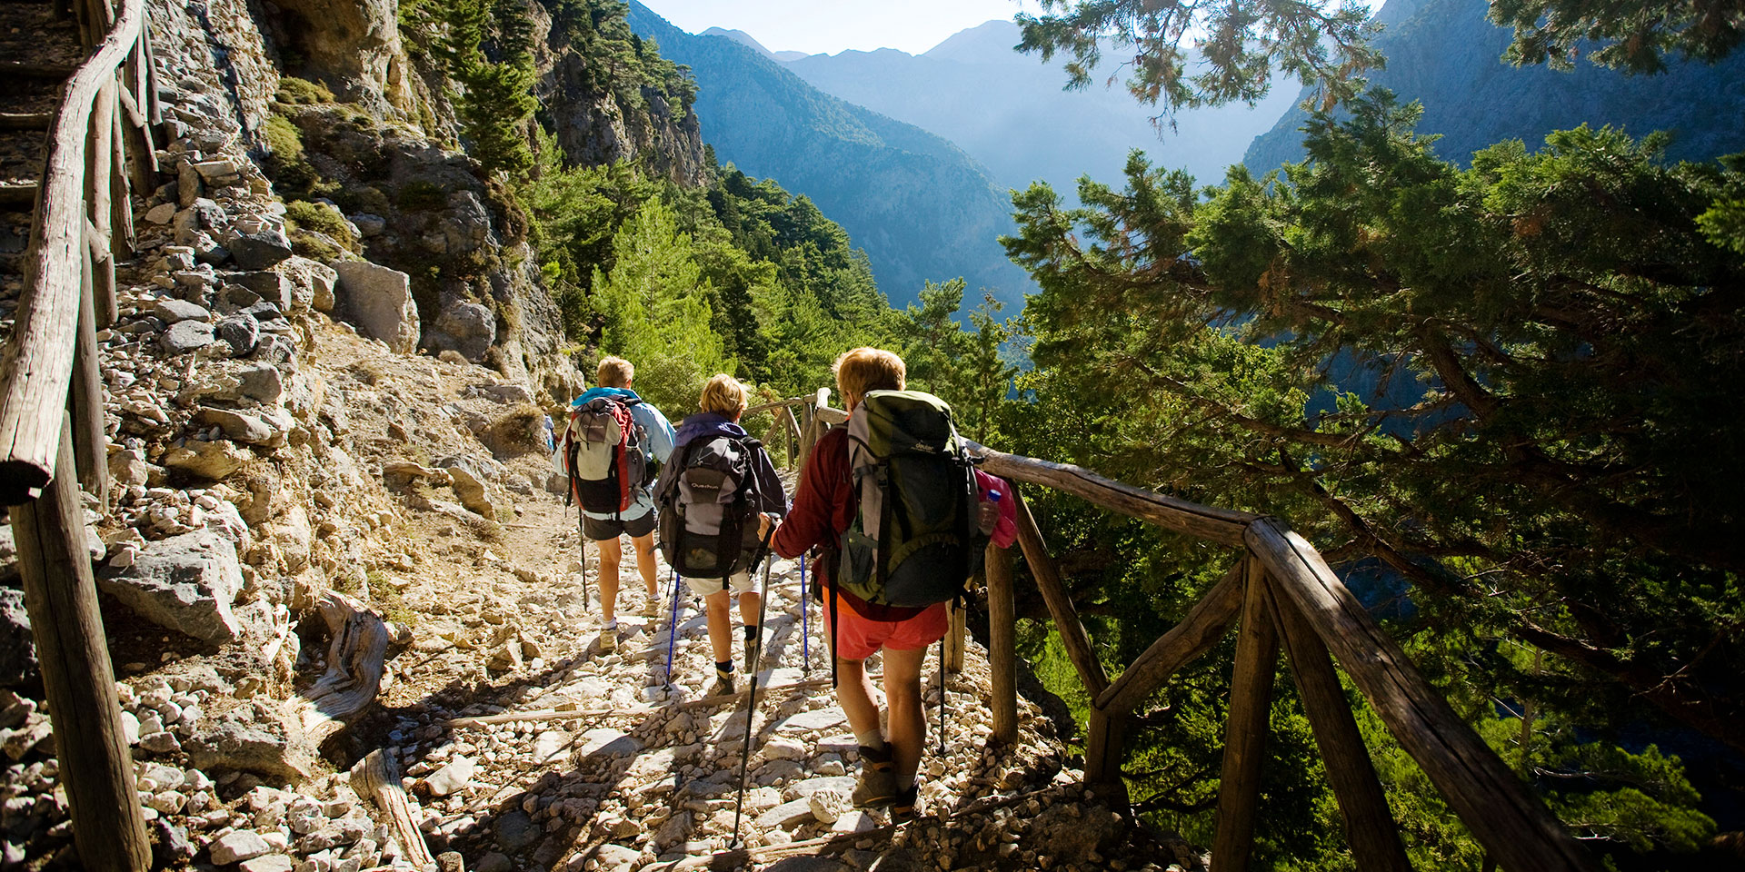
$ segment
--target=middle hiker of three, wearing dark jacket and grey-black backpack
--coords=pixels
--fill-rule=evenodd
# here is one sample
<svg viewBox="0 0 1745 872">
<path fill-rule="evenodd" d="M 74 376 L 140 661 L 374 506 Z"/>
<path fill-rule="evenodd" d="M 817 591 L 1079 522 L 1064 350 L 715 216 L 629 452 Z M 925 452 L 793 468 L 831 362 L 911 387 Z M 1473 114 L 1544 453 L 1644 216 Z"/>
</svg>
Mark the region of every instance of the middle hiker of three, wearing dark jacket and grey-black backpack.
<svg viewBox="0 0 1745 872">
<path fill-rule="evenodd" d="M 756 567 L 768 555 L 759 514 L 787 514 L 787 494 L 763 443 L 740 427 L 749 391 L 717 373 L 703 385 L 696 415 L 679 422 L 677 448 L 654 485 L 660 546 L 675 576 L 719 584 L 703 603 L 715 656 L 710 696 L 733 692 L 729 596 L 738 600 L 745 635 L 745 673 L 756 680 L 763 649 L 763 589 Z M 707 588 L 705 588 L 707 589 Z M 674 596 L 677 596 L 674 582 Z"/>
</svg>

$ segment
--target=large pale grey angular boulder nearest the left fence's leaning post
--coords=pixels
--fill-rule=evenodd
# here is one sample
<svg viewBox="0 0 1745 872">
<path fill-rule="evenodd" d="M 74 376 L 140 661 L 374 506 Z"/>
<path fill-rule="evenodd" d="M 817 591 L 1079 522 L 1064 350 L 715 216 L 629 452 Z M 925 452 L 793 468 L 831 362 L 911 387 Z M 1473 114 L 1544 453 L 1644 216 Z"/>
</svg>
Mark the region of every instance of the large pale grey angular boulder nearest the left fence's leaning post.
<svg viewBox="0 0 1745 872">
<path fill-rule="evenodd" d="M 98 589 L 159 626 L 202 642 L 236 642 L 230 603 L 243 591 L 236 544 L 215 530 L 147 542 L 126 569 L 105 569 Z"/>
</svg>

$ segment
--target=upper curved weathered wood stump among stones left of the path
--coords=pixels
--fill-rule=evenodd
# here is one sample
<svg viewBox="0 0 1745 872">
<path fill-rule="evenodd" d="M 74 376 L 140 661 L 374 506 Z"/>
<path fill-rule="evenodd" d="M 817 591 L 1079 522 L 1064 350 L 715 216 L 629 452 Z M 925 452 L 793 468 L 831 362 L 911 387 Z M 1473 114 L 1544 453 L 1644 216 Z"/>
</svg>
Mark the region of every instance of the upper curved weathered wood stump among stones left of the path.
<svg viewBox="0 0 1745 872">
<path fill-rule="evenodd" d="M 382 621 L 382 616 L 344 593 L 323 593 L 316 609 L 333 640 L 328 644 L 326 673 L 304 691 L 309 703 L 304 710 L 304 731 L 311 745 L 319 745 L 375 703 L 389 651 L 412 642 L 412 631 L 403 624 Z"/>
</svg>

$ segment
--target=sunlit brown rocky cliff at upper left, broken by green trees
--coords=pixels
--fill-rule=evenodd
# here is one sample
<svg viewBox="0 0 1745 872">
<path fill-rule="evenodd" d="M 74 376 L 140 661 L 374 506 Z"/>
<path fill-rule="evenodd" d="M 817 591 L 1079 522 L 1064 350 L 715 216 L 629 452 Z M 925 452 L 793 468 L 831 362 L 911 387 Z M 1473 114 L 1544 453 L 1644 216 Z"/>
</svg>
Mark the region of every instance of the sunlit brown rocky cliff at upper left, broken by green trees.
<svg viewBox="0 0 1745 872">
<path fill-rule="evenodd" d="M 337 209 L 335 227 L 297 232 L 293 221 L 302 253 L 363 256 L 405 272 L 424 352 L 489 363 L 553 398 L 574 389 L 525 218 L 466 157 L 450 105 L 457 85 L 428 35 L 401 33 L 396 3 L 213 0 L 150 9 L 166 77 L 206 94 L 204 108 L 234 122 L 236 145 L 267 166 L 283 199 Z M 701 131 L 689 96 L 672 87 L 681 80 L 670 65 L 670 80 L 651 82 L 644 66 L 658 56 L 628 28 L 623 44 L 609 45 L 619 49 L 614 56 L 600 51 L 612 35 L 599 31 L 592 7 L 569 7 L 571 19 L 565 7 L 551 9 L 558 12 L 529 2 L 525 14 L 541 120 L 565 157 L 585 166 L 640 160 L 679 185 L 701 185 Z M 281 77 L 302 82 L 281 92 Z M 290 122 L 277 136 L 269 133 L 276 115 Z M 166 171 L 194 157 L 171 160 Z M 286 167 L 298 174 L 290 178 Z"/>
</svg>

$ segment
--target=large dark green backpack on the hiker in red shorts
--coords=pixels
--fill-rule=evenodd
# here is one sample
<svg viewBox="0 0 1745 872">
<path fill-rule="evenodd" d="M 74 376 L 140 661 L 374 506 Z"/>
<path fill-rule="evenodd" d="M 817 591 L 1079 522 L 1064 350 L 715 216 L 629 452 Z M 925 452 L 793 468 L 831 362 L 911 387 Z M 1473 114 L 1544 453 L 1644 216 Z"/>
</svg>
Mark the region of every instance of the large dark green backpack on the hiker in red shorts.
<svg viewBox="0 0 1745 872">
<path fill-rule="evenodd" d="M 848 417 L 848 467 L 860 513 L 843 532 L 834 582 L 900 610 L 961 595 L 981 542 L 975 467 L 951 406 L 921 391 L 867 391 Z"/>
</svg>

